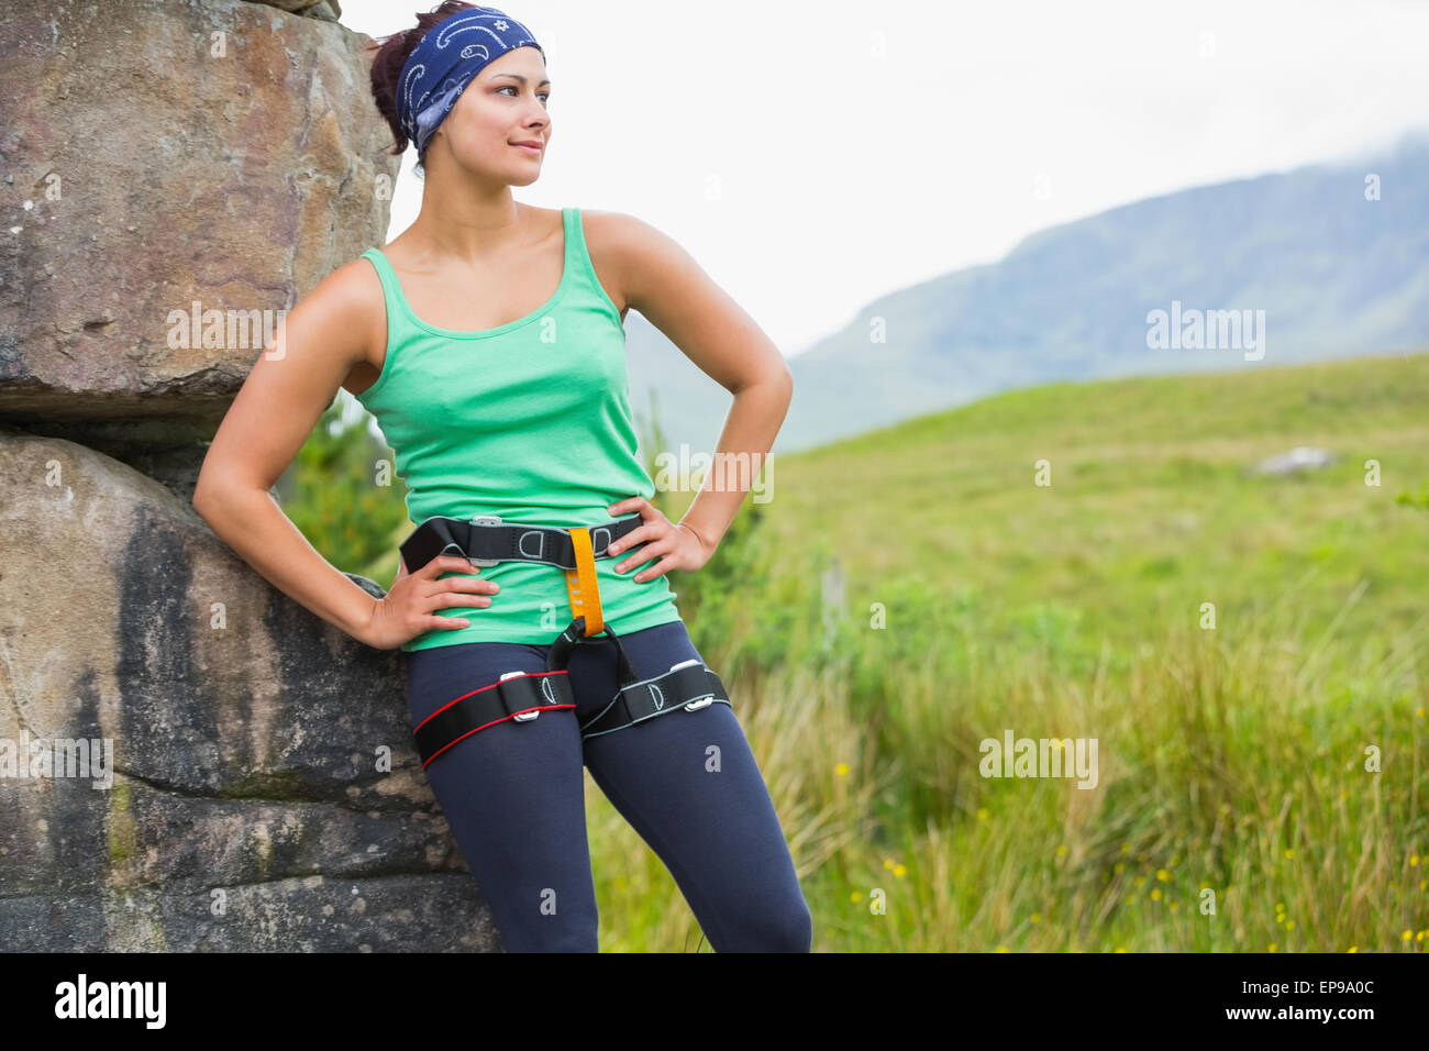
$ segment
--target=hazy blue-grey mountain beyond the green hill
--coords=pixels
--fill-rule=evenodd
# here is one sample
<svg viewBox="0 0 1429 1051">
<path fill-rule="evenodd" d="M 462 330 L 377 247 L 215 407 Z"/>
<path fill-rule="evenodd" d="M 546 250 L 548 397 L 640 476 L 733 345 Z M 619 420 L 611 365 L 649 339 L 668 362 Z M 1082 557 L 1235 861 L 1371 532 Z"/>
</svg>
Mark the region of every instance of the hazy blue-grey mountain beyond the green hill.
<svg viewBox="0 0 1429 1051">
<path fill-rule="evenodd" d="M 1379 177 L 1379 199 L 1366 179 Z M 1147 315 L 1263 310 L 1236 347 L 1147 345 Z M 1176 312 L 1176 315 L 1173 315 Z M 1212 315 L 1215 317 L 1215 315 Z M 883 319 L 886 342 L 873 342 Z M 1215 322 L 1209 326 L 1218 330 Z M 626 317 L 632 406 L 713 450 L 729 395 Z M 1225 330 L 1229 335 L 1229 330 Z M 1187 332 L 1187 335 L 1192 335 Z M 1386 154 L 1152 197 L 1030 235 L 999 263 L 883 296 L 790 359 L 795 452 L 1057 379 L 1266 367 L 1429 347 L 1429 134 Z M 653 392 L 653 395 L 652 395 Z"/>
</svg>

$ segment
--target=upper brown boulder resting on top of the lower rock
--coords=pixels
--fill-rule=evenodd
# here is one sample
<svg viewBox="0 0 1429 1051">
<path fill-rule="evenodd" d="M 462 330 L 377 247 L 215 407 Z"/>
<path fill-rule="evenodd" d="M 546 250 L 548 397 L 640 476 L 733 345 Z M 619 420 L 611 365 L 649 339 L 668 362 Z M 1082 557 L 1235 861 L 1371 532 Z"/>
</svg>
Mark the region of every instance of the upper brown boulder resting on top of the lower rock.
<svg viewBox="0 0 1429 1051">
<path fill-rule="evenodd" d="M 264 330 L 386 240 L 399 160 L 369 37 L 239 0 L 99 10 L 0 6 L 0 419 L 191 495 Z"/>
</svg>

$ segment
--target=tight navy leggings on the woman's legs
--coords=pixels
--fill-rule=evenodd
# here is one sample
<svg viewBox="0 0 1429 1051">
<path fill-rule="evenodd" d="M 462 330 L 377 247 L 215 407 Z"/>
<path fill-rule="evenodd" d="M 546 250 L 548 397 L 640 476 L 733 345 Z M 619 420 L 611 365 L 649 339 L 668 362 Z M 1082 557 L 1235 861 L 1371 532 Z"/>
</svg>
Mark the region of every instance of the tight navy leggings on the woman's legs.
<svg viewBox="0 0 1429 1051">
<path fill-rule="evenodd" d="M 683 621 L 620 642 L 640 678 L 703 661 Z M 409 652 L 412 725 L 502 672 L 546 671 L 549 652 L 516 642 Z M 809 905 L 733 709 L 672 711 L 582 741 L 577 719 L 603 709 L 622 685 L 614 642 L 584 639 L 567 671 L 574 711 L 497 722 L 426 768 L 506 951 L 596 951 L 584 765 L 669 868 L 716 952 L 809 952 Z"/>
</svg>

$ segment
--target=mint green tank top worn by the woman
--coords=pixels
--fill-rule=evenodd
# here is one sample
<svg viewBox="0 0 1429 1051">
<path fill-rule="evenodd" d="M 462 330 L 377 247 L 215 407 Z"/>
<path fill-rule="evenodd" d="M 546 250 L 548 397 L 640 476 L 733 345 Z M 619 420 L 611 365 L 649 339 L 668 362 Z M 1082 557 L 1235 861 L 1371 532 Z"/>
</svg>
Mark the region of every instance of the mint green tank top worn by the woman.
<svg viewBox="0 0 1429 1051">
<path fill-rule="evenodd" d="M 482 332 L 439 329 L 417 317 L 380 249 L 367 259 L 387 302 L 387 356 L 357 400 L 377 420 L 407 485 L 407 518 L 592 526 L 607 508 L 654 496 L 630 419 L 624 326 L 596 279 L 580 209 L 562 209 L 564 267 L 556 293 L 524 317 Z M 629 555 L 596 559 L 604 619 L 620 635 L 679 621 L 666 575 L 623 575 Z M 459 573 L 443 573 L 443 579 Z M 437 609 L 467 628 L 432 629 L 402 649 L 463 642 L 546 645 L 570 623 L 566 573 L 534 562 L 484 566 L 500 591 L 490 606 Z"/>
</svg>

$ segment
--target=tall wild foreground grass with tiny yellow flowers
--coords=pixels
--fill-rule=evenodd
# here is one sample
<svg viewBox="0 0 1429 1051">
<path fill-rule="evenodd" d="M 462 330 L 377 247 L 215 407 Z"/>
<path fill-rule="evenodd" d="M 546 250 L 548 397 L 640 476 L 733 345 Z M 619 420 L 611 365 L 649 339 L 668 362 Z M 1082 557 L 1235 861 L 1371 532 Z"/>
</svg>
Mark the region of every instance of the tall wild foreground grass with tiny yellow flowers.
<svg viewBox="0 0 1429 1051">
<path fill-rule="evenodd" d="M 940 649 L 957 628 L 936 619 L 907 632 L 919 661 L 890 663 L 892 636 L 846 626 L 837 659 L 730 682 L 816 948 L 1422 951 L 1422 629 L 1335 672 L 1293 602 L 1278 611 L 1172 626 L 1090 671 L 1055 648 Z M 983 778 L 979 742 L 1005 729 L 1096 738 L 1096 786 Z M 664 867 L 597 791 L 587 804 L 619 917 L 603 947 L 689 948 Z"/>
</svg>

